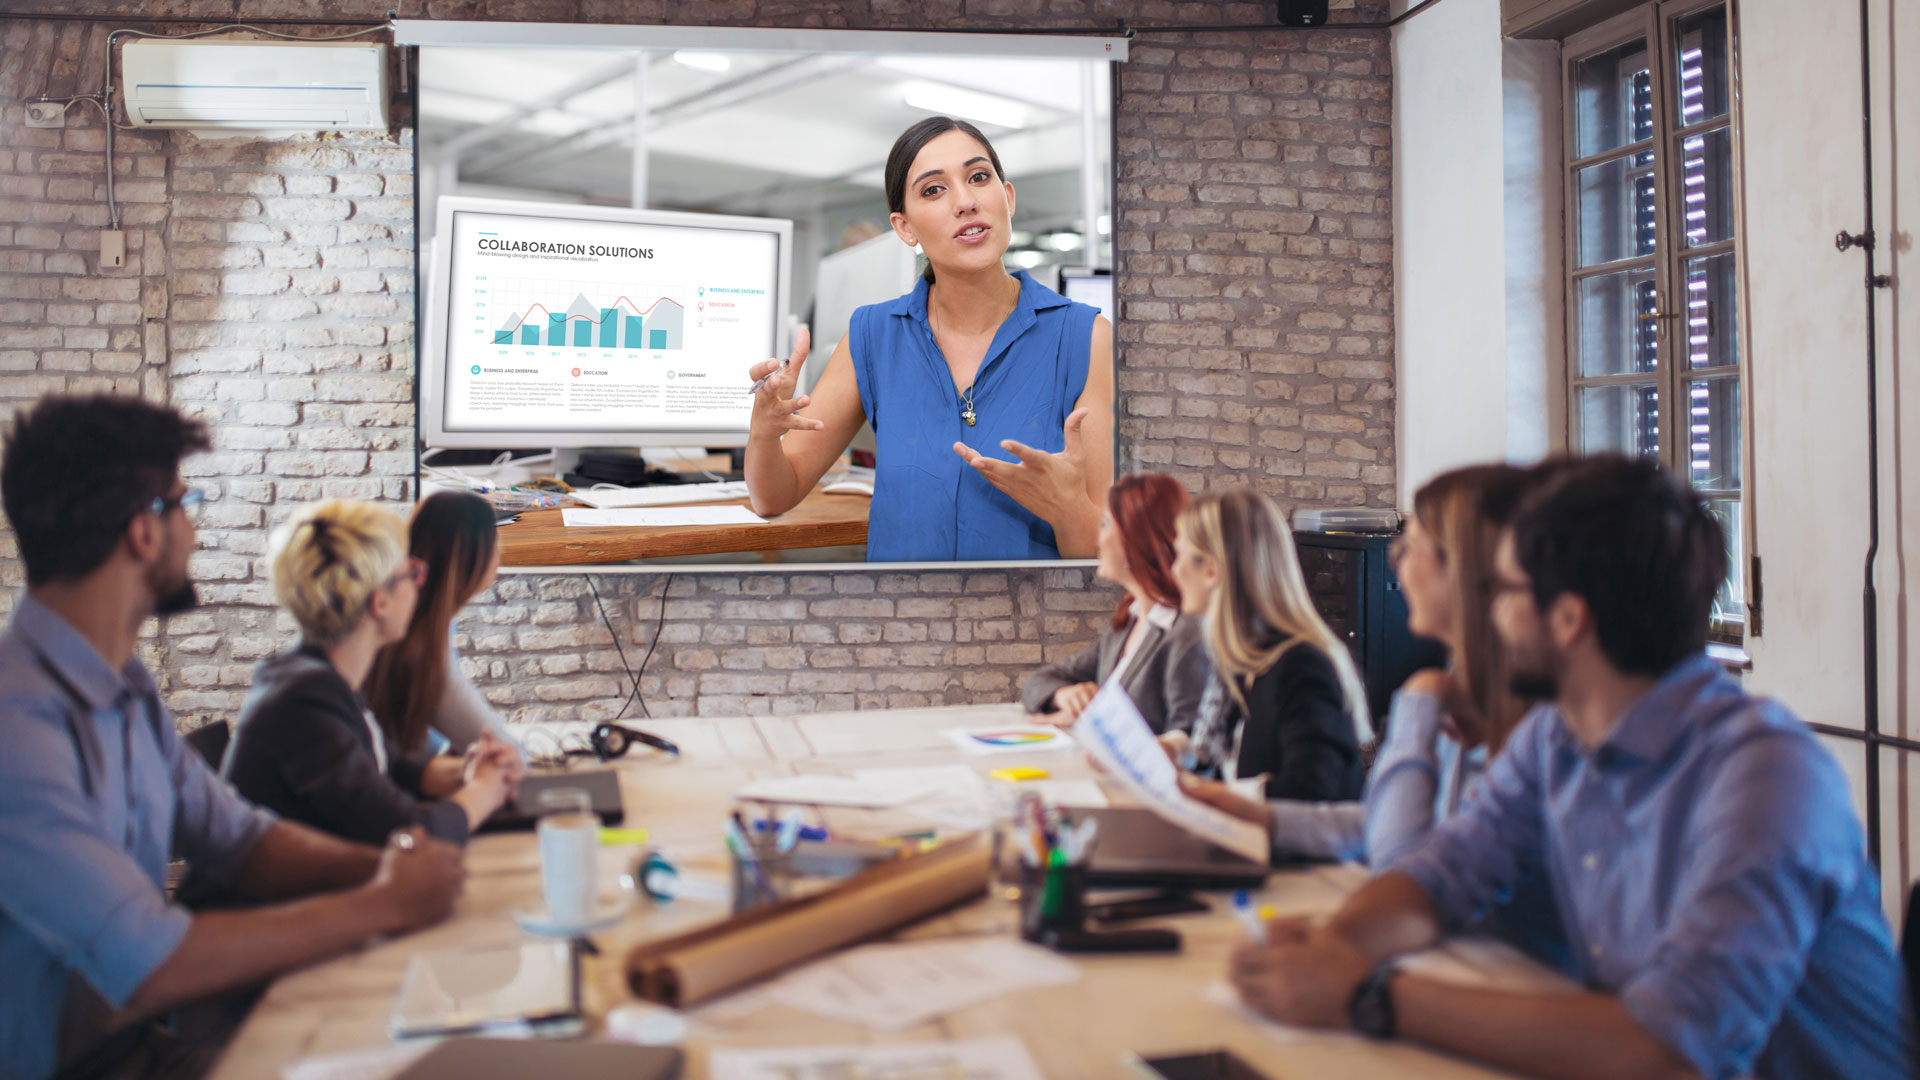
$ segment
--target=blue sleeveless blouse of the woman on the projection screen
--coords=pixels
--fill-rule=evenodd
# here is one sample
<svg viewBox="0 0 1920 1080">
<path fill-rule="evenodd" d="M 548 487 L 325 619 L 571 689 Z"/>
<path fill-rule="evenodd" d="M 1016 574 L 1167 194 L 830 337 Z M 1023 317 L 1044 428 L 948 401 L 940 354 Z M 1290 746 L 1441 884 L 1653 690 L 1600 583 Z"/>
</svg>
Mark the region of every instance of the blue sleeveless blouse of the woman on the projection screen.
<svg viewBox="0 0 1920 1080">
<path fill-rule="evenodd" d="M 852 313 L 860 405 L 874 425 L 874 507 L 866 557 L 876 563 L 1058 559 L 1054 527 L 1002 494 L 952 444 L 1012 461 L 1002 438 L 1066 450 L 1068 413 L 1087 388 L 1096 307 L 1014 271 L 1020 302 L 973 377 L 975 425 L 927 323 L 927 281 Z"/>
</svg>

